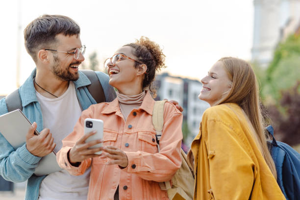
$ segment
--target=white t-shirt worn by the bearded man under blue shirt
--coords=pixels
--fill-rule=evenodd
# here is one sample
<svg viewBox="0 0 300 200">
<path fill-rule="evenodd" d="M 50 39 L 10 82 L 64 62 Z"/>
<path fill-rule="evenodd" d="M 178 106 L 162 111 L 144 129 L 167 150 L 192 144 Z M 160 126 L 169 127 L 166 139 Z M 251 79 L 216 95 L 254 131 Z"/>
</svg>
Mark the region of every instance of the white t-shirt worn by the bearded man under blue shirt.
<svg viewBox="0 0 300 200">
<path fill-rule="evenodd" d="M 68 136 L 81 115 L 81 108 L 72 81 L 67 91 L 60 97 L 49 99 L 36 91 L 41 105 L 44 128 L 49 128 L 56 147 L 62 148 L 62 140 Z M 90 168 L 79 176 L 70 175 L 66 170 L 47 175 L 40 185 L 39 200 L 86 200 Z"/>
</svg>

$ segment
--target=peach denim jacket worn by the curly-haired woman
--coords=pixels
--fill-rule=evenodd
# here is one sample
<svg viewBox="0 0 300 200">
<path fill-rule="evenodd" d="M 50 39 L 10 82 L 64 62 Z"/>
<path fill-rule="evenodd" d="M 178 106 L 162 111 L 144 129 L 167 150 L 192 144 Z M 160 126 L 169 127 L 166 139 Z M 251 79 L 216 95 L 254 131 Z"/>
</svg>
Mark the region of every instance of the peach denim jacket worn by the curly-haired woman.
<svg viewBox="0 0 300 200">
<path fill-rule="evenodd" d="M 181 166 L 182 114 L 166 102 L 158 153 L 151 116 L 153 105 L 154 100 L 147 93 L 140 108 L 133 109 L 126 122 L 118 99 L 91 105 L 82 112 L 74 131 L 63 140 L 57 162 L 71 175 L 82 175 L 92 166 L 88 200 L 113 200 L 118 185 L 120 200 L 168 200 L 167 192 L 160 189 L 158 182 L 170 180 Z M 83 136 L 86 118 L 103 120 L 103 146 L 124 150 L 128 157 L 126 168 L 105 165 L 108 159 L 99 157 L 87 159 L 79 167 L 69 163 L 67 153 Z"/>
</svg>

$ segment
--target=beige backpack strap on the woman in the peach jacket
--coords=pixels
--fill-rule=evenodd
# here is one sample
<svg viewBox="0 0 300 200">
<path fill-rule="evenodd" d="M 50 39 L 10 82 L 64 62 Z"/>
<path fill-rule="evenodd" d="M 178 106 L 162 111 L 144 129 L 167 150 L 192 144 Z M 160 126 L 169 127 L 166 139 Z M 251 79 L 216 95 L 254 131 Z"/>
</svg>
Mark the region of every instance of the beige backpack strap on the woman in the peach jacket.
<svg viewBox="0 0 300 200">
<path fill-rule="evenodd" d="M 164 106 L 166 101 L 167 100 L 155 101 L 153 106 L 153 111 L 152 111 L 152 125 L 154 126 L 156 132 L 155 137 L 156 137 L 158 152 L 160 151 L 159 140 L 161 138 L 162 129 L 164 125 Z M 170 181 L 159 182 L 159 186 L 160 189 L 162 190 L 168 190 L 171 188 L 171 183 Z"/>
</svg>

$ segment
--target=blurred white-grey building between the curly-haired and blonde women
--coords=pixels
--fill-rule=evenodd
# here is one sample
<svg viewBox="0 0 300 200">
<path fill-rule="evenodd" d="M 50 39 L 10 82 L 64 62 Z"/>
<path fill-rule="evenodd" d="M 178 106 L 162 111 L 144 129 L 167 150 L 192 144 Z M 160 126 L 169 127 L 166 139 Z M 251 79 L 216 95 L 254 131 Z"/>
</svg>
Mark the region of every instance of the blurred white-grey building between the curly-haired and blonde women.
<svg viewBox="0 0 300 200">
<path fill-rule="evenodd" d="M 202 114 L 209 107 L 208 103 L 198 99 L 202 83 L 198 80 L 163 73 L 156 75 L 154 85 L 157 89 L 156 100 L 176 100 L 183 107 L 183 122 L 187 123 L 191 133 L 185 143 L 190 145 L 199 133 Z"/>
</svg>

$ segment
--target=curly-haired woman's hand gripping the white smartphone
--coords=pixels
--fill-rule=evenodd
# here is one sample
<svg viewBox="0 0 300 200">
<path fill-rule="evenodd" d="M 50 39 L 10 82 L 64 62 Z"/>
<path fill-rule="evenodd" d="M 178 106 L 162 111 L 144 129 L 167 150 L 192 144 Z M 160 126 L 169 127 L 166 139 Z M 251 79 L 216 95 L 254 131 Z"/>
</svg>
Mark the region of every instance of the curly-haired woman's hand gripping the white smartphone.
<svg viewBox="0 0 300 200">
<path fill-rule="evenodd" d="M 88 143 L 85 143 L 85 140 L 96 134 L 96 131 L 89 132 L 86 135 L 83 135 L 76 143 L 75 146 L 69 151 L 69 162 L 72 165 L 76 165 L 78 162 L 82 162 L 91 157 L 98 157 L 99 154 L 95 154 L 96 152 L 103 149 L 103 147 L 95 148 L 95 149 L 88 149 L 94 145 L 102 143 L 102 139 L 94 140 Z"/>
</svg>

